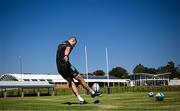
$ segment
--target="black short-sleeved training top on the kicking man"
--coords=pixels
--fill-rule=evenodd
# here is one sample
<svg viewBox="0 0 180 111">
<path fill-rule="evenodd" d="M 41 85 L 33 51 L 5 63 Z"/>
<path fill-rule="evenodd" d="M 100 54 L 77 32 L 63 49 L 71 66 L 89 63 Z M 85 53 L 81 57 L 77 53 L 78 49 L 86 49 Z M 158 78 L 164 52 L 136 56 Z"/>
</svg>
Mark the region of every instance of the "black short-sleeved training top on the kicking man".
<svg viewBox="0 0 180 111">
<path fill-rule="evenodd" d="M 59 60 L 63 60 L 64 56 L 66 56 L 64 54 L 66 47 L 71 47 L 71 51 L 73 49 L 73 46 L 68 41 L 65 41 L 58 45 L 57 54 L 56 54 L 56 62 L 58 62 Z M 70 51 L 70 53 L 71 53 L 71 51 Z"/>
</svg>

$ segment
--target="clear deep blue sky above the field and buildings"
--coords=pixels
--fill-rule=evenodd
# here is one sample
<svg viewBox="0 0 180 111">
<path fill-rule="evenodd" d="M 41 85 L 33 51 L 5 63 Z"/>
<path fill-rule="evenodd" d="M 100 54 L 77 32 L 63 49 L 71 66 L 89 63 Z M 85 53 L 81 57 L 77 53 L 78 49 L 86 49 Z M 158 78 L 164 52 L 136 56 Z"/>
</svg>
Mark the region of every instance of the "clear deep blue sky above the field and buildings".
<svg viewBox="0 0 180 111">
<path fill-rule="evenodd" d="M 57 73 L 57 45 L 78 38 L 71 62 L 85 72 L 141 63 L 180 64 L 179 0 L 0 0 L 0 73 Z"/>
</svg>

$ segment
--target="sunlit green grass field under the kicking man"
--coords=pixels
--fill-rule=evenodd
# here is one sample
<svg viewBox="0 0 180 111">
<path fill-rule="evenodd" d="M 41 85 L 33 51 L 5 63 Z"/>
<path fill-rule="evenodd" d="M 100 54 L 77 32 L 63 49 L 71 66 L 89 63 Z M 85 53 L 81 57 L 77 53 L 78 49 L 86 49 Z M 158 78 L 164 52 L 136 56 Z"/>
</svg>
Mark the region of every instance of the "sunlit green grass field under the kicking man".
<svg viewBox="0 0 180 111">
<path fill-rule="evenodd" d="M 124 111 L 179 111 L 180 92 L 164 92 L 165 100 L 156 101 L 147 96 L 148 92 L 124 92 L 103 94 L 101 103 L 94 104 L 95 99 L 82 95 L 89 103 L 80 105 L 74 95 L 41 97 L 0 98 L 0 110 L 124 110 Z M 71 105 L 67 103 L 71 102 Z"/>
</svg>

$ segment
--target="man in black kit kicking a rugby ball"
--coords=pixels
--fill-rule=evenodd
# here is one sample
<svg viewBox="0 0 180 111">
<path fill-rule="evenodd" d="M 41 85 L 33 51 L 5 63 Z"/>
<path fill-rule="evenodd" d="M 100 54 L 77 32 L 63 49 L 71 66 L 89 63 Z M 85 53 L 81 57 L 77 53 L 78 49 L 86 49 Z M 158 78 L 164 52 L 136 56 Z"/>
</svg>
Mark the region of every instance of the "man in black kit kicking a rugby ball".
<svg viewBox="0 0 180 111">
<path fill-rule="evenodd" d="M 76 79 L 82 85 L 82 87 L 91 94 L 91 97 L 100 96 L 101 94 L 93 91 L 86 84 L 78 70 L 69 61 L 69 55 L 76 43 L 76 37 L 71 36 L 67 41 L 59 44 L 56 55 L 56 64 L 59 74 L 61 74 L 61 76 L 68 81 L 69 87 L 72 88 L 72 91 L 80 101 L 80 104 L 86 104 L 87 102 L 80 96 L 79 90 L 73 79 Z"/>
</svg>

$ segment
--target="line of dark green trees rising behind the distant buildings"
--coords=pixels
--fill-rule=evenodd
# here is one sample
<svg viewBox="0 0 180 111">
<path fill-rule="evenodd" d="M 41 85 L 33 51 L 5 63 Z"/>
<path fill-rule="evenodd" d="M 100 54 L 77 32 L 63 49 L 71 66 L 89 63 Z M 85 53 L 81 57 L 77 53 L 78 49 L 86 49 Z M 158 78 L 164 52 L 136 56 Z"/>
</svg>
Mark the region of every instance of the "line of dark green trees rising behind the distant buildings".
<svg viewBox="0 0 180 111">
<path fill-rule="evenodd" d="M 170 79 L 173 78 L 180 79 L 180 65 L 176 65 L 173 61 L 169 61 L 167 65 L 160 66 L 158 68 L 145 67 L 143 64 L 138 64 L 133 69 L 133 74 L 138 74 L 138 73 L 149 73 L 149 74 L 171 73 L 169 76 Z M 92 73 L 89 73 L 89 75 L 104 76 L 105 72 L 99 69 Z M 117 66 L 109 71 L 109 75 L 115 76 L 117 78 L 126 79 L 129 78 L 130 74 L 125 68 L 121 66 Z"/>
</svg>

